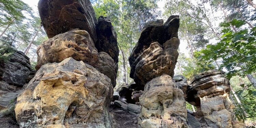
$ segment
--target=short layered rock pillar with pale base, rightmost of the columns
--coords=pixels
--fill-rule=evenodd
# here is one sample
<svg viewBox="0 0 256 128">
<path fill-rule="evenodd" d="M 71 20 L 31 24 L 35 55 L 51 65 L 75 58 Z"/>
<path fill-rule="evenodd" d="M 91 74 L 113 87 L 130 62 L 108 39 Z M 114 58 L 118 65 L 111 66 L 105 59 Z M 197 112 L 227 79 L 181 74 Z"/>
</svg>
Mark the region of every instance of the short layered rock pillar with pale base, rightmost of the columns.
<svg viewBox="0 0 256 128">
<path fill-rule="evenodd" d="M 229 99 L 230 83 L 223 74 L 223 71 L 209 70 L 195 77 L 191 82 L 193 90 L 197 92 L 194 96 L 200 98 L 201 112 L 210 127 L 245 128 L 242 122 L 234 118 L 234 106 Z"/>
</svg>

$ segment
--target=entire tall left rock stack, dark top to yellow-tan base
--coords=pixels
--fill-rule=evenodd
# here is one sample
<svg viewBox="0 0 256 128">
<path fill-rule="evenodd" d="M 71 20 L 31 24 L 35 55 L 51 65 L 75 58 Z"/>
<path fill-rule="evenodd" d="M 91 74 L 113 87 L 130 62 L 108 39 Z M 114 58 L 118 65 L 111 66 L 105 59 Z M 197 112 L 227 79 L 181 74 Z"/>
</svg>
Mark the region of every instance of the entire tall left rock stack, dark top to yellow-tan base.
<svg viewBox="0 0 256 128">
<path fill-rule="evenodd" d="M 38 71 L 17 98 L 19 126 L 111 128 L 119 50 L 110 20 L 96 23 L 89 0 L 40 0 L 38 8 L 50 39 L 38 47 Z"/>
</svg>

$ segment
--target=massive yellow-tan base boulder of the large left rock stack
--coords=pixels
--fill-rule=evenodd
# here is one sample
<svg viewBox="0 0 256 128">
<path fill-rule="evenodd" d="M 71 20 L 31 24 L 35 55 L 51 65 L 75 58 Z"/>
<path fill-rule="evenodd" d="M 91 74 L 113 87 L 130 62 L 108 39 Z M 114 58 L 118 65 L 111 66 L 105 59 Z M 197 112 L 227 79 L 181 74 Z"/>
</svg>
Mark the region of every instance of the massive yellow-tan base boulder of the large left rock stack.
<svg viewBox="0 0 256 128">
<path fill-rule="evenodd" d="M 16 119 L 21 128 L 111 128 L 112 96 L 109 77 L 67 58 L 37 71 L 17 98 Z"/>
</svg>

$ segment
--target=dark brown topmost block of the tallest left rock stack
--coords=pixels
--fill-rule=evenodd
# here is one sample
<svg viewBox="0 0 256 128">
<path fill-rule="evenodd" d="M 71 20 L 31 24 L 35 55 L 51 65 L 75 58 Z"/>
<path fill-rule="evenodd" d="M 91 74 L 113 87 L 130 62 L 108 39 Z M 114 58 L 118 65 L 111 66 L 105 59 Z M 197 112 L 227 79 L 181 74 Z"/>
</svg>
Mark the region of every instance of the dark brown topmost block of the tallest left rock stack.
<svg viewBox="0 0 256 128">
<path fill-rule="evenodd" d="M 38 10 L 48 38 L 79 28 L 96 42 L 97 20 L 89 0 L 40 0 Z"/>
</svg>

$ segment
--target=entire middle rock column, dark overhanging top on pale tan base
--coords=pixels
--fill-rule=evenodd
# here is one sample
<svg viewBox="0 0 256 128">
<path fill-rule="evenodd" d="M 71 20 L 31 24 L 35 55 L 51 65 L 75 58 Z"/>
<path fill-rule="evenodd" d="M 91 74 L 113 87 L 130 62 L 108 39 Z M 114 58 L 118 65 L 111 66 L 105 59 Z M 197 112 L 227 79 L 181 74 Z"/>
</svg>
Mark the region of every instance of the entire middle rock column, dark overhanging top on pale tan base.
<svg viewBox="0 0 256 128">
<path fill-rule="evenodd" d="M 145 24 L 129 57 L 130 77 L 144 87 L 138 128 L 187 128 L 183 90 L 173 80 L 179 53 L 179 16 Z"/>
</svg>

